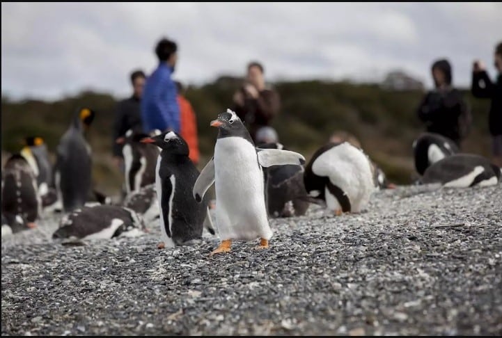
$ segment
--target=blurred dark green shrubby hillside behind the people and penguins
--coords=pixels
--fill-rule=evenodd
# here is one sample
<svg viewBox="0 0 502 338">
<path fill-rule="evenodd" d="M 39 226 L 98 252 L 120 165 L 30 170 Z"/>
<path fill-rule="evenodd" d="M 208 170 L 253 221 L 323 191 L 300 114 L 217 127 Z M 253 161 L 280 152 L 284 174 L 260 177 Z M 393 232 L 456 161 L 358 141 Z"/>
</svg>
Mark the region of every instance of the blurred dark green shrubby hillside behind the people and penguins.
<svg viewBox="0 0 502 338">
<path fill-rule="evenodd" d="M 209 126 L 218 113 L 231 106 L 232 95 L 240 79 L 220 77 L 203 86 L 188 86 L 186 97 L 198 118 L 201 163 L 212 156 L 217 129 Z M 363 150 L 386 172 L 391 182 L 410 184 L 415 178 L 411 144 L 423 131 L 416 116 L 421 90 L 386 90 L 378 84 L 350 82 L 298 81 L 273 84 L 281 95 L 281 112 L 272 126 L 281 143 L 310 159 L 315 150 L 327 142 L 336 130 L 354 134 Z M 473 115 L 471 133 L 464 140 L 464 152 L 489 156 L 490 138 L 487 130 L 489 101 L 475 99 L 469 90 L 464 97 Z M 34 99 L 14 102 L 1 98 L 2 163 L 10 152 L 21 149 L 24 136 L 42 136 L 52 152 L 68 128 L 74 111 L 87 106 L 97 116 L 88 131 L 93 149 L 93 181 L 95 188 L 117 194 L 123 175 L 113 167 L 111 144 L 117 100 L 100 92 L 84 91 L 74 97 L 54 102 Z"/>
</svg>

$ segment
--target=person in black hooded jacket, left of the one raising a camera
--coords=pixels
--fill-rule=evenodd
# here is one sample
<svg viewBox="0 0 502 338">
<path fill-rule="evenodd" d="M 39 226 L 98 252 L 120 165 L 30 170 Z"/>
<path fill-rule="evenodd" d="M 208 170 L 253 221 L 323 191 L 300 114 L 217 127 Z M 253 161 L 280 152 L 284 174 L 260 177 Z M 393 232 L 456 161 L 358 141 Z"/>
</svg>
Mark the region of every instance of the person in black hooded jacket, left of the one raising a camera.
<svg viewBox="0 0 502 338">
<path fill-rule="evenodd" d="M 434 62 L 432 77 L 436 88 L 425 95 L 418 107 L 418 118 L 425 122 L 428 132 L 446 136 L 460 146 L 471 119 L 462 93 L 452 86 L 450 63 L 444 59 Z"/>
</svg>

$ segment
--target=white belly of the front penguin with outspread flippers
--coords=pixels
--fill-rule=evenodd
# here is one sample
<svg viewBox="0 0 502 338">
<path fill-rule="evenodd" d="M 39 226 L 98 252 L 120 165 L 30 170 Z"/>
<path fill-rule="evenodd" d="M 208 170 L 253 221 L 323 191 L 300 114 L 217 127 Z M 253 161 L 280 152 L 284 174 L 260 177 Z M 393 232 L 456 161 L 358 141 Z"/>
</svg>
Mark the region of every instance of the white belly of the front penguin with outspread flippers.
<svg viewBox="0 0 502 338">
<path fill-rule="evenodd" d="M 214 147 L 214 169 L 220 239 L 270 239 L 263 174 L 255 147 L 244 138 L 219 138 Z"/>
</svg>

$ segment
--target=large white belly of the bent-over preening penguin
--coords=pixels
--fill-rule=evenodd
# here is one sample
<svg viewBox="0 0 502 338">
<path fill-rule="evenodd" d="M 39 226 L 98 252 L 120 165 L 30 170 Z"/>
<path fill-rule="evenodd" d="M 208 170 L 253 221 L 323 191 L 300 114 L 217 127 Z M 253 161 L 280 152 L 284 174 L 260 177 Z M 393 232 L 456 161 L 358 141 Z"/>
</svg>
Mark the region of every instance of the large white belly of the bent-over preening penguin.
<svg viewBox="0 0 502 338">
<path fill-rule="evenodd" d="M 376 190 L 368 157 L 349 143 L 337 145 L 321 154 L 315 159 L 312 170 L 315 175 L 329 177 L 332 184 L 347 194 L 352 212 L 365 208 Z M 328 199 L 330 204 L 335 204 L 331 196 L 327 197 L 327 202 Z"/>
</svg>

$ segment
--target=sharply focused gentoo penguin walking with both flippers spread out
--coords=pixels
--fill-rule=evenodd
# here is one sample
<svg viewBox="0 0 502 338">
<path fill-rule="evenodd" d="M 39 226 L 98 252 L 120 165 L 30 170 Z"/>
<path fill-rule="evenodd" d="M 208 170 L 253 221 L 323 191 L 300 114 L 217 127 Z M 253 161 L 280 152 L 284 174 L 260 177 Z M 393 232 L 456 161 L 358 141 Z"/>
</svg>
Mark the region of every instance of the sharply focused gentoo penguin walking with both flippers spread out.
<svg viewBox="0 0 502 338">
<path fill-rule="evenodd" d="M 305 163 L 301 154 L 288 150 L 257 149 L 249 131 L 234 111 L 218 115 L 210 125 L 218 127 L 214 156 L 194 185 L 200 202 L 213 182 L 216 187 L 216 219 L 221 243 L 211 255 L 230 252 L 232 240 L 260 238 L 258 248 L 268 248 L 272 237 L 265 207 L 262 167 Z"/>
</svg>

